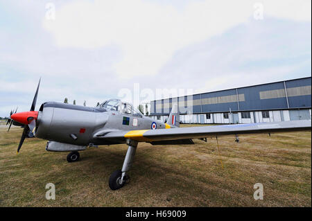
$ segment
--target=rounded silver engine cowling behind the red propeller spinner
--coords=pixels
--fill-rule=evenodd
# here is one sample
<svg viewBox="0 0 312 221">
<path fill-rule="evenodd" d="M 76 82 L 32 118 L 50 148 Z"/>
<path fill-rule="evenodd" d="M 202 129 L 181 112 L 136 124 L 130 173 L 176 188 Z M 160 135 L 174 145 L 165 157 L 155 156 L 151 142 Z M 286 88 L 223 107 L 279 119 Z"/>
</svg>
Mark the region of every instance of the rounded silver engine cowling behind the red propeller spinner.
<svg viewBox="0 0 312 221">
<path fill-rule="evenodd" d="M 103 127 L 107 119 L 104 109 L 44 103 L 38 114 L 35 136 L 60 143 L 88 145 L 94 130 Z"/>
</svg>

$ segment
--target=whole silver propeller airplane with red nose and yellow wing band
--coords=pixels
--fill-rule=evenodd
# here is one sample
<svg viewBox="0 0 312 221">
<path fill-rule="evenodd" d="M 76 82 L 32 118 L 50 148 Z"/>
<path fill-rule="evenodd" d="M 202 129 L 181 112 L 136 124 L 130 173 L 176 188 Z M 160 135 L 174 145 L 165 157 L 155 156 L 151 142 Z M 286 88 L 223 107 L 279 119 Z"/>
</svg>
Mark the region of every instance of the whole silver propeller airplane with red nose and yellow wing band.
<svg viewBox="0 0 312 221">
<path fill-rule="evenodd" d="M 40 78 L 41 80 L 41 78 Z M 24 125 L 17 152 L 24 139 L 30 133 L 45 139 L 47 151 L 69 152 L 68 162 L 78 161 L 78 151 L 87 146 L 113 145 L 126 143 L 121 170 L 110 175 L 109 186 L 115 191 L 128 183 L 128 171 L 132 166 L 137 145 L 147 142 L 152 145 L 193 144 L 192 139 L 205 139 L 212 136 L 271 133 L 311 130 L 311 120 L 283 121 L 274 123 L 250 123 L 236 125 L 218 125 L 203 127 L 179 127 L 180 113 L 178 105 L 173 105 L 166 123 L 144 116 L 130 103 L 119 99 L 106 100 L 97 107 L 85 107 L 66 103 L 46 102 L 35 111 L 40 80 L 29 112 L 10 112 L 9 129 L 15 125 Z M 206 139 L 207 140 L 207 139 Z M 237 139 L 236 139 L 237 141 Z"/>
</svg>

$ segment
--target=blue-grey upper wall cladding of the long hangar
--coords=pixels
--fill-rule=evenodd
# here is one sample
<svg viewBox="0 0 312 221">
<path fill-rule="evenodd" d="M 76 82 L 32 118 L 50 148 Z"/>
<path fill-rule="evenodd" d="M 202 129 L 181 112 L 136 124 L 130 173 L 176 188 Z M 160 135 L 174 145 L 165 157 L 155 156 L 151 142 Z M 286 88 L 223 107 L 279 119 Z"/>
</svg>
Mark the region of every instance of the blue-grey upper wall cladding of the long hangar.
<svg viewBox="0 0 312 221">
<path fill-rule="evenodd" d="M 263 109 L 294 109 L 294 108 L 311 108 L 311 94 L 304 96 L 288 96 L 288 105 L 286 97 L 281 98 L 268 98 L 260 99 L 259 93 L 261 91 L 271 91 L 284 89 L 284 82 L 286 88 L 292 87 L 304 87 L 311 86 L 311 77 L 299 78 L 294 80 L 286 80 L 283 82 L 273 82 L 265 85 L 254 85 L 250 87 L 241 87 L 238 89 L 228 89 L 223 91 L 214 91 L 203 94 L 193 95 L 193 100 L 200 100 L 204 98 L 216 98 L 222 96 L 236 96 L 237 94 L 243 94 L 244 101 L 229 102 L 229 103 L 216 103 L 209 105 L 193 105 L 193 114 L 207 113 L 207 112 L 229 112 L 231 108 L 232 112 L 263 110 Z M 186 97 L 180 97 L 179 100 L 186 100 Z M 174 99 L 175 100 L 175 99 Z M 156 113 L 156 101 L 152 101 L 153 109 L 151 109 L 151 115 L 164 115 L 171 111 L 171 108 L 162 109 L 161 113 Z M 172 99 L 170 99 L 170 103 Z M 162 100 L 162 105 L 164 101 Z"/>
</svg>

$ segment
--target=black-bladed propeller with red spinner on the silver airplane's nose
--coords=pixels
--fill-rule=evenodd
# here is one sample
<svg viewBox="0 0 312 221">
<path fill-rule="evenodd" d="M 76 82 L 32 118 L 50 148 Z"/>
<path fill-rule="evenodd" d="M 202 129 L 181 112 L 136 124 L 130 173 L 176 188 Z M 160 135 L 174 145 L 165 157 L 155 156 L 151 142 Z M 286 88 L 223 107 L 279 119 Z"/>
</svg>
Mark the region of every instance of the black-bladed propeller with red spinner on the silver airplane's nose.
<svg viewBox="0 0 312 221">
<path fill-rule="evenodd" d="M 28 135 L 28 133 L 31 130 L 33 131 L 35 129 L 36 120 L 37 120 L 37 116 L 38 116 L 38 112 L 35 112 L 35 106 L 37 103 L 37 96 L 38 96 L 38 91 L 39 91 L 39 87 L 40 87 L 40 81 L 41 81 L 41 78 L 39 80 L 35 96 L 33 97 L 33 103 L 31 104 L 31 110 L 29 112 L 16 113 L 17 112 L 17 109 L 16 109 L 14 114 L 11 111 L 10 118 L 8 119 L 8 122 L 7 122 L 7 124 L 10 123 L 10 127 L 11 127 L 13 121 L 17 121 L 18 123 L 25 125 L 23 133 L 21 134 L 21 140 L 19 141 L 19 147 L 17 148 L 17 152 L 19 152 L 19 150 L 21 149 L 21 145 L 23 145 L 24 140 L 25 140 L 26 136 Z M 10 127 L 9 127 L 9 130 L 10 130 Z"/>
</svg>

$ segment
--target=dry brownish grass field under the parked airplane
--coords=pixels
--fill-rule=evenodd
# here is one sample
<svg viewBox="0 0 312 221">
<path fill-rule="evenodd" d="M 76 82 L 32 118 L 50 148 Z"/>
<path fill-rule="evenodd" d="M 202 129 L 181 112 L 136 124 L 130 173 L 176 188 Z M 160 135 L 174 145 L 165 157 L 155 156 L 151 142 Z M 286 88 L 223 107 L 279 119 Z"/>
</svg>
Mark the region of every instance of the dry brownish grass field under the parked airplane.
<svg viewBox="0 0 312 221">
<path fill-rule="evenodd" d="M 68 163 L 67 152 L 47 152 L 40 139 L 26 139 L 16 154 L 22 129 L 6 131 L 0 125 L 0 206 L 311 206 L 311 131 L 249 134 L 239 143 L 221 136 L 220 157 L 215 138 L 139 143 L 131 182 L 119 191 L 108 179 L 126 145 L 88 148 Z M 45 198 L 47 183 L 55 184 L 55 200 Z M 256 183 L 263 200 L 253 198 Z"/>
</svg>

